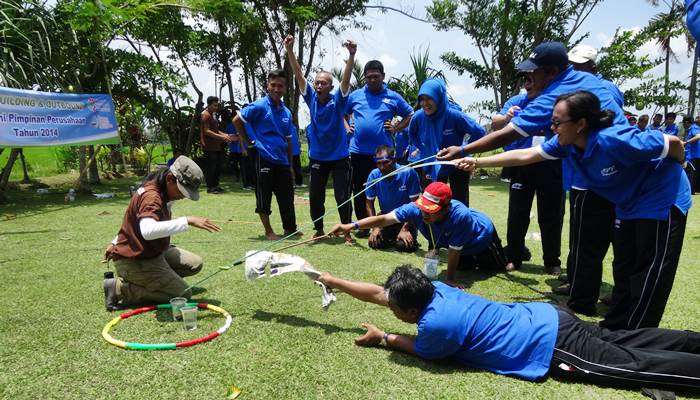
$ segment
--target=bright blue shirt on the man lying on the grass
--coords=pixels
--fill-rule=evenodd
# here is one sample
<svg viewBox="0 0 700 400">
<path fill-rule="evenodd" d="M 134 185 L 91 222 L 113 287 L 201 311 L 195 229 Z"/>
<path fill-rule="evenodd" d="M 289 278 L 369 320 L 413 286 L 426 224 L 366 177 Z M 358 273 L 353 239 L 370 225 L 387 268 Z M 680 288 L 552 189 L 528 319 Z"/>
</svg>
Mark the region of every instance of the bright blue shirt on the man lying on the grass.
<svg viewBox="0 0 700 400">
<path fill-rule="evenodd" d="M 534 381 L 547 375 L 559 315 L 546 303 L 501 304 L 432 282 L 418 319 L 416 354 Z"/>
</svg>

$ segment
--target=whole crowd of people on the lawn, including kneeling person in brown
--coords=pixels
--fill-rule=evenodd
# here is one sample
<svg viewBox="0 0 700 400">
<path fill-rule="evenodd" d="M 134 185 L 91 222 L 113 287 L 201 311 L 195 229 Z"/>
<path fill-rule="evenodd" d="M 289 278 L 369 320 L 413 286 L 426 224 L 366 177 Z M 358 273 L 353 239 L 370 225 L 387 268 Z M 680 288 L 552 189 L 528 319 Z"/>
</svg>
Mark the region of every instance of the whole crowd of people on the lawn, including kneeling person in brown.
<svg viewBox="0 0 700 400">
<path fill-rule="evenodd" d="M 689 18 L 695 15 L 692 7 Z M 494 115 L 487 134 L 450 100 L 439 79 L 422 84 L 415 112 L 386 86 L 384 67 L 376 60 L 364 67 L 364 87 L 350 92 L 357 51 L 352 41 L 344 43 L 349 56 L 337 90 L 324 71 L 308 82 L 293 42 L 289 36 L 283 45 L 294 76 L 270 71 L 266 96 L 240 110 L 223 110 L 222 129 L 215 118 L 218 99 L 208 99 L 201 128 L 206 177 L 180 156 L 149 176 L 132 198 L 107 252 L 119 273 L 104 282 L 108 310 L 183 295 L 187 286 L 182 277 L 201 269 L 201 258 L 191 253 L 174 260 L 169 238 L 189 226 L 212 232 L 219 227 L 203 217 L 171 219 L 170 207 L 180 198 L 197 200 L 202 181 L 208 193 L 222 191 L 221 144 L 229 145 L 230 162 L 244 188 L 255 190 L 255 213 L 265 236 L 279 239 L 269 219 L 273 194 L 284 235 L 297 232 L 299 136 L 282 101 L 295 79 L 310 112 L 304 132 L 314 236 L 342 236 L 346 245 L 368 238 L 372 249 L 413 252 L 420 233 L 429 247 L 426 265 L 439 249 L 447 249 L 446 273 L 439 276 L 403 265 L 378 286 L 321 274 L 319 281 L 328 287 L 387 306 L 400 320 L 417 325 L 417 334 L 409 336 L 365 324 L 367 332 L 357 344 L 388 346 L 532 381 L 556 376 L 601 385 L 700 390 L 700 334 L 659 328 L 683 248 L 691 195 L 698 187 L 700 127 L 692 116 L 682 120 L 685 139 L 678 137 L 674 113 L 656 114 L 651 124 L 646 115 L 630 120 L 620 90 L 596 70 L 596 49 L 579 45 L 569 51 L 562 43 L 544 42 L 516 66 L 522 94 Z M 506 151 L 474 156 L 499 147 Z M 404 167 L 429 156 L 451 162 L 419 171 Z M 510 182 L 505 247 L 490 217 L 469 202 L 471 173 L 499 166 Z M 321 217 L 331 176 L 341 223 L 326 233 Z M 568 295 L 566 304 L 503 304 L 463 290 L 458 270 L 512 273 L 531 258 L 525 235 L 535 197 L 542 265 L 561 278 L 567 192 L 567 273 L 554 289 Z M 598 323 L 586 322 L 576 314 L 597 315 L 609 248 L 614 279 L 612 297 L 605 300 L 609 308 Z M 186 273 L 181 273 L 183 264 Z M 163 279 L 167 269 L 171 273 Z M 138 297 L 130 297 L 136 292 Z M 668 394 L 648 393 L 657 398 Z"/>
</svg>

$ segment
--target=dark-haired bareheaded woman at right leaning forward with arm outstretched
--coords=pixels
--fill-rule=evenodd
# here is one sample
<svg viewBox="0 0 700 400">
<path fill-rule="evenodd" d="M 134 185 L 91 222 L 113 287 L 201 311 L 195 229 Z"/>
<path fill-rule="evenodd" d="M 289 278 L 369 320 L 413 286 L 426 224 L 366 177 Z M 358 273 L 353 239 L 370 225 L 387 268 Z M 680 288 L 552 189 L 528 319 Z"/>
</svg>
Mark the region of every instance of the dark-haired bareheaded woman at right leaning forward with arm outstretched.
<svg viewBox="0 0 700 400">
<path fill-rule="evenodd" d="M 568 157 L 588 187 L 615 204 L 613 305 L 600 326 L 610 330 L 659 326 L 673 287 L 692 201 L 681 164 L 681 140 L 658 131 L 614 124 L 588 91 L 557 98 L 556 133 L 541 146 L 484 158 L 459 168 L 518 166 Z"/>
</svg>

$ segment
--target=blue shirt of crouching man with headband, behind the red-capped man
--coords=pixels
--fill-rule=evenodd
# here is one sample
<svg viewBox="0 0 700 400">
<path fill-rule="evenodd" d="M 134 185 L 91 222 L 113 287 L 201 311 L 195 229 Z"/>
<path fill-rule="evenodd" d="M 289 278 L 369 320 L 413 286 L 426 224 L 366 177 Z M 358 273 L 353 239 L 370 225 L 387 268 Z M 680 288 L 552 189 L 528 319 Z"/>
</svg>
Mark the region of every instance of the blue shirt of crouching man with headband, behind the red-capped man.
<svg viewBox="0 0 700 400">
<path fill-rule="evenodd" d="M 402 165 L 396 164 L 396 169 Z M 420 196 L 420 179 L 418 173 L 412 168 L 406 168 L 393 177 L 386 178 L 374 185 L 370 184 L 382 177 L 379 168 L 375 168 L 367 177 L 367 200 L 379 197 L 379 208 L 382 214 L 386 214 L 395 208 L 410 203 Z"/>
</svg>

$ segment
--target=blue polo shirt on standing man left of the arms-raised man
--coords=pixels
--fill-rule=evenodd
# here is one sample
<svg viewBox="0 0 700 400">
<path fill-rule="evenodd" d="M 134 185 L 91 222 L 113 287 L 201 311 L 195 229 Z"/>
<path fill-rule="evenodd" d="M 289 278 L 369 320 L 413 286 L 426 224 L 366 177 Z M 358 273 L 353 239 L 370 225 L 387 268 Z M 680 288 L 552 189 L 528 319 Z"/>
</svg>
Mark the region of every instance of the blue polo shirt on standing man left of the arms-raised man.
<svg viewBox="0 0 700 400">
<path fill-rule="evenodd" d="M 292 113 L 283 104 L 275 106 L 270 96 L 243 107 L 239 113 L 250 125 L 255 148 L 263 159 L 278 165 L 289 165 L 287 139 L 292 139 Z"/>
</svg>

